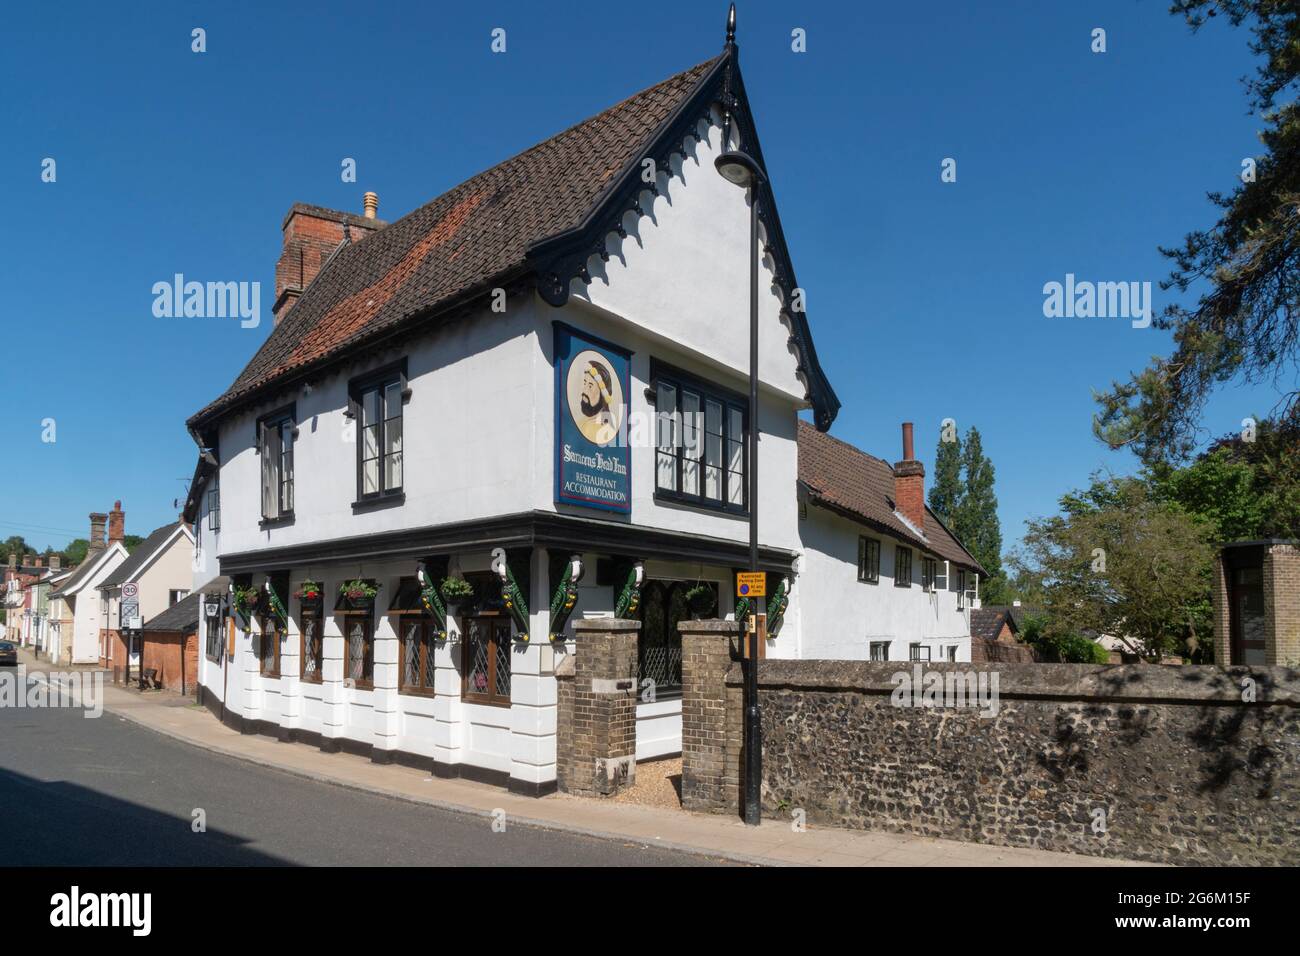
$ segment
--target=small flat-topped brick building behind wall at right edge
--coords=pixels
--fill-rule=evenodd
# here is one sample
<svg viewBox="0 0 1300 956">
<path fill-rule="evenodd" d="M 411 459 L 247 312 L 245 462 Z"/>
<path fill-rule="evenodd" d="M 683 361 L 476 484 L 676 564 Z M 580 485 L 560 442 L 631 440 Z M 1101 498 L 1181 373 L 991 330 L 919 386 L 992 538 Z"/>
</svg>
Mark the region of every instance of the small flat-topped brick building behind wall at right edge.
<svg viewBox="0 0 1300 956">
<path fill-rule="evenodd" d="M 1235 541 L 1219 550 L 1214 659 L 1300 666 L 1300 540 Z"/>
</svg>

